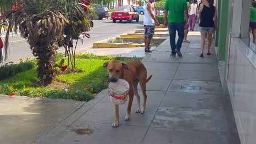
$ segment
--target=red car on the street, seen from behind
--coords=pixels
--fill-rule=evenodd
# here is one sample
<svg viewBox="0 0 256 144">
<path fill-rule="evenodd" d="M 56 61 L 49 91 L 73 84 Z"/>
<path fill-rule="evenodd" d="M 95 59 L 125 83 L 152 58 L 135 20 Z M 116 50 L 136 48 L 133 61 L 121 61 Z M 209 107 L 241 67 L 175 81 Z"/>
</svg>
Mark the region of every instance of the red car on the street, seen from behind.
<svg viewBox="0 0 256 144">
<path fill-rule="evenodd" d="M 111 18 L 113 19 L 114 23 L 116 20 L 119 20 L 120 22 L 127 20 L 130 21 L 130 23 L 132 23 L 133 20 L 139 22 L 139 13 L 136 12 L 132 6 L 123 5 L 116 7 L 115 11 L 113 11 L 111 14 Z"/>
</svg>

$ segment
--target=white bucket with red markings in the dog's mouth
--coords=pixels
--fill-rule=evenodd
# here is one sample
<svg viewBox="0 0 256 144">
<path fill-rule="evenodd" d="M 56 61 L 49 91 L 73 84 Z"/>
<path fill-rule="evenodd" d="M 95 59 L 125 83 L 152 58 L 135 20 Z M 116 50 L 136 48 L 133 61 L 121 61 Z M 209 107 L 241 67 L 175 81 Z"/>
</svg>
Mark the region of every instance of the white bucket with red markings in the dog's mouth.
<svg viewBox="0 0 256 144">
<path fill-rule="evenodd" d="M 108 85 L 110 100 L 116 105 L 124 104 L 128 99 L 130 89 L 129 83 L 124 79 L 118 79 L 117 82 L 110 82 Z"/>
</svg>

